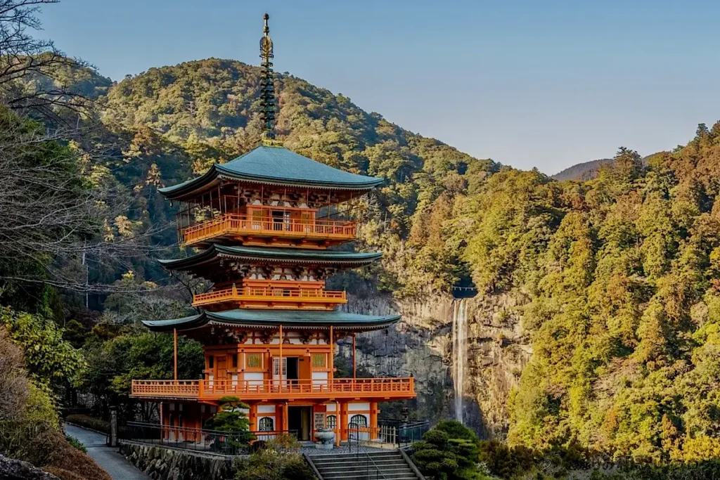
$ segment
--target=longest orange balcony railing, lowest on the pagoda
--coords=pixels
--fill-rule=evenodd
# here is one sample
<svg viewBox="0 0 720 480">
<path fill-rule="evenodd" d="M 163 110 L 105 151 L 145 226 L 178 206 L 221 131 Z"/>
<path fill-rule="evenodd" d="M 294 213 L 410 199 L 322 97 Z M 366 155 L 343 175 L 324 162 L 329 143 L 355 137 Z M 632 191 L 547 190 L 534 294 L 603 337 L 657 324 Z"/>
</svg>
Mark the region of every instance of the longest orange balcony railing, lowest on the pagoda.
<svg viewBox="0 0 720 480">
<path fill-rule="evenodd" d="M 132 397 L 173 399 L 413 398 L 413 377 L 332 380 L 133 380 Z"/>
</svg>

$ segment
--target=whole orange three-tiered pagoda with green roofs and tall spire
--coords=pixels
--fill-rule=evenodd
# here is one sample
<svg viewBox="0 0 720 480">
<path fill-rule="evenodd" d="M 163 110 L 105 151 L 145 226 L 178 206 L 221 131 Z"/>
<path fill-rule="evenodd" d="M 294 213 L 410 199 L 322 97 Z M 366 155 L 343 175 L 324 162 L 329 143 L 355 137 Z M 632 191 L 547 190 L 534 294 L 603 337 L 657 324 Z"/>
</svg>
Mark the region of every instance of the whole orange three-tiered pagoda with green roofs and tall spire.
<svg viewBox="0 0 720 480">
<path fill-rule="evenodd" d="M 381 253 L 336 247 L 356 237 L 356 223 L 332 212 L 382 183 L 341 171 L 283 148 L 274 140 L 272 41 L 261 40 L 264 140 L 257 148 L 183 184 L 160 189 L 180 205 L 179 243 L 187 258 L 163 260 L 164 268 L 212 284 L 196 294 L 199 314 L 143 322 L 156 332 L 202 343 L 202 379 L 135 380 L 132 396 L 160 404 L 163 435 L 202 428 L 222 397 L 248 404 L 250 430 L 292 432 L 312 440 L 318 428 L 348 428 L 377 437 L 378 402 L 415 397 L 413 379 L 336 378 L 338 340 L 385 329 L 398 315 L 338 311 L 345 291 L 326 288 L 329 276 L 369 266 Z M 355 358 L 353 352 L 353 358 Z M 184 435 L 187 437 L 188 435 Z"/>
</svg>

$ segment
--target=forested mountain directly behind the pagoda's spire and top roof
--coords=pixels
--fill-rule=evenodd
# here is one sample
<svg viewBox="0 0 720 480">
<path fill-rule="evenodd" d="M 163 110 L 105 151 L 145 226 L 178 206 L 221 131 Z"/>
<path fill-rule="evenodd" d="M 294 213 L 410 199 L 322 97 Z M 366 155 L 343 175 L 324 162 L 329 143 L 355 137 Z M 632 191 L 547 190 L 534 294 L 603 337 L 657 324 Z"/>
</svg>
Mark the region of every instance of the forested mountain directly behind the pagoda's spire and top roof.
<svg viewBox="0 0 720 480">
<path fill-rule="evenodd" d="M 130 135 L 116 177 L 138 189 L 135 195 L 148 206 L 149 219 L 158 220 L 162 202 L 154 189 L 141 185 L 184 181 L 257 144 L 259 81 L 258 67 L 199 60 L 125 78 L 100 99 L 106 127 Z M 378 272 L 382 288 L 398 295 L 416 294 L 420 286 L 447 291 L 467 274 L 454 253 L 440 248 L 441 219 L 456 194 L 498 171 L 498 164 L 403 130 L 346 96 L 292 75 L 279 75 L 276 88 L 277 134 L 287 148 L 386 179 L 364 212 L 361 232 L 366 246 L 387 253 Z"/>
</svg>

